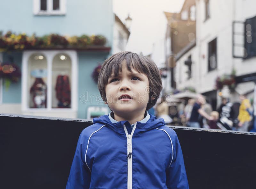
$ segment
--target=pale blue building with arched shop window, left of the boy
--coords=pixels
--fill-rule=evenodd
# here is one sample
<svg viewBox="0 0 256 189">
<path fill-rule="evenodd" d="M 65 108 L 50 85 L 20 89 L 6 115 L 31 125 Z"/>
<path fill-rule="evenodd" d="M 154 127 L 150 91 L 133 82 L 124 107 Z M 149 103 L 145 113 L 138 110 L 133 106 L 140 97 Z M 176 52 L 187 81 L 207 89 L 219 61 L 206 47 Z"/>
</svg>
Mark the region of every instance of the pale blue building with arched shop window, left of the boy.
<svg viewBox="0 0 256 189">
<path fill-rule="evenodd" d="M 0 17 L 4 18 L 0 26 L 3 34 L 53 33 L 75 36 L 76 40 L 78 36 L 88 44 L 94 41 L 81 48 L 79 40 L 72 48 L 49 41 L 52 47 L 0 52 L 0 62 L 15 63 L 22 70 L 18 83 L 7 87 L 6 80 L 1 81 L 1 113 L 87 118 L 89 109 L 92 113 L 102 111 L 97 107 L 105 105 L 92 73 L 98 72 L 97 67 L 109 56 L 113 44 L 112 0 L 10 0 L 1 3 Z M 63 40 L 60 36 L 53 35 L 51 40 Z"/>
</svg>

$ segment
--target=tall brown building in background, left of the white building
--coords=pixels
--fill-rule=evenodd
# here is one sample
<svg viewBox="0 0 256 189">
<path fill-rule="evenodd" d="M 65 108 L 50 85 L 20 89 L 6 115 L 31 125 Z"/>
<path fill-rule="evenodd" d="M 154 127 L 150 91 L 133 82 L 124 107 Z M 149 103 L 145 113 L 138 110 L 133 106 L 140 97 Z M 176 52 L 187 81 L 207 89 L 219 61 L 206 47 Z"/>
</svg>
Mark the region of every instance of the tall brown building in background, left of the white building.
<svg viewBox="0 0 256 189">
<path fill-rule="evenodd" d="M 175 69 L 175 61 L 172 58 L 186 49 L 195 46 L 196 37 L 196 6 L 195 0 L 186 0 L 179 13 L 164 12 L 168 25 L 165 35 L 165 60 L 166 67 L 170 70 L 167 80 L 170 81 L 172 89 L 176 89 L 176 79 L 178 76 Z M 169 61 L 168 61 L 169 60 Z"/>
</svg>

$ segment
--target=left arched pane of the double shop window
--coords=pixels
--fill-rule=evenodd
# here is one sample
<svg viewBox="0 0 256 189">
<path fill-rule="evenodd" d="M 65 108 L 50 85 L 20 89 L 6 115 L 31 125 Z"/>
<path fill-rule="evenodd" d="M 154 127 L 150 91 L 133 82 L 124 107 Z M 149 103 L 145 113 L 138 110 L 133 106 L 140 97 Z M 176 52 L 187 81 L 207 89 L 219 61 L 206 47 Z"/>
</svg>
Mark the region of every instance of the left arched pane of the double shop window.
<svg viewBox="0 0 256 189">
<path fill-rule="evenodd" d="M 44 55 L 33 54 L 28 59 L 28 107 L 46 108 L 47 60 Z"/>
</svg>

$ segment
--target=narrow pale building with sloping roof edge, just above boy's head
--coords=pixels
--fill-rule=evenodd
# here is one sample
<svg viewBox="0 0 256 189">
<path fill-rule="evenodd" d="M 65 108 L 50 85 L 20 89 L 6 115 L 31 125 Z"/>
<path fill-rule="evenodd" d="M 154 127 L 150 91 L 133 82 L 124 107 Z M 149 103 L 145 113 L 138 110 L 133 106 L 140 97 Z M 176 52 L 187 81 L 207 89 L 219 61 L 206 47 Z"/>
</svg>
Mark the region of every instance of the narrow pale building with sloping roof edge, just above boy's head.
<svg viewBox="0 0 256 189">
<path fill-rule="evenodd" d="M 127 26 L 115 14 L 113 50 L 112 50 L 113 54 L 121 51 L 125 51 L 125 47 L 128 42 L 129 36 L 130 36 L 130 31 L 128 30 Z"/>
</svg>

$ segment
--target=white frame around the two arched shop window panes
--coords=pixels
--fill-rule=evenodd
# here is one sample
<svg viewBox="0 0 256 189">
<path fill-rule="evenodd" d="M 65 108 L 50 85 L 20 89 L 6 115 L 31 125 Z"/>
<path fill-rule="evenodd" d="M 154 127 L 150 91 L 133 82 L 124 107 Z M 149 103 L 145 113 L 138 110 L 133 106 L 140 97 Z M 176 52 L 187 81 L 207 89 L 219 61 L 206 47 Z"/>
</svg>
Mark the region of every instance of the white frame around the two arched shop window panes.
<svg viewBox="0 0 256 189">
<path fill-rule="evenodd" d="M 31 55 L 38 53 L 45 56 L 47 60 L 47 108 L 29 108 L 28 106 L 28 59 Z M 72 62 L 71 66 L 71 108 L 52 108 L 52 61 L 57 54 L 67 54 Z M 74 50 L 30 50 L 23 51 L 22 76 L 21 76 L 21 109 L 23 112 L 74 112 L 77 111 L 77 89 L 78 89 L 78 60 Z"/>
</svg>

